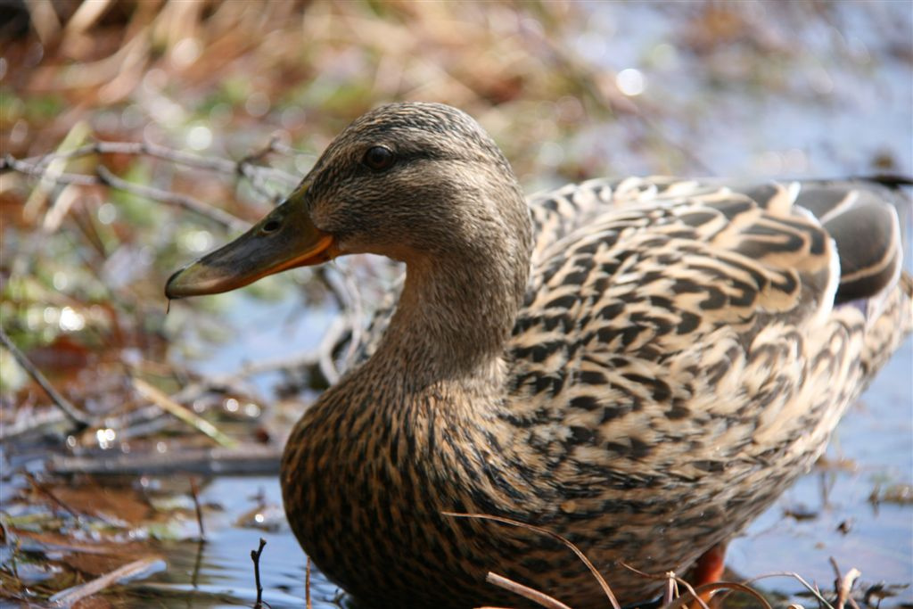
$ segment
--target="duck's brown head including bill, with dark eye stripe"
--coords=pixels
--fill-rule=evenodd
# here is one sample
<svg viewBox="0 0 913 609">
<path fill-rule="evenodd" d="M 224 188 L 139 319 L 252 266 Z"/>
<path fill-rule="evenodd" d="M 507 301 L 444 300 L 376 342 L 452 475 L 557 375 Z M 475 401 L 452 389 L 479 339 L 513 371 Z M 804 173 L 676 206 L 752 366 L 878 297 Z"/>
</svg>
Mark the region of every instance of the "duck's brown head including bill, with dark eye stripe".
<svg viewBox="0 0 913 609">
<path fill-rule="evenodd" d="M 523 268 L 530 247 L 519 185 L 477 122 L 442 104 L 397 103 L 354 121 L 281 205 L 176 272 L 165 294 L 215 294 L 354 253 L 409 267 L 504 257 Z M 507 279 L 521 293 L 520 274 Z"/>
</svg>

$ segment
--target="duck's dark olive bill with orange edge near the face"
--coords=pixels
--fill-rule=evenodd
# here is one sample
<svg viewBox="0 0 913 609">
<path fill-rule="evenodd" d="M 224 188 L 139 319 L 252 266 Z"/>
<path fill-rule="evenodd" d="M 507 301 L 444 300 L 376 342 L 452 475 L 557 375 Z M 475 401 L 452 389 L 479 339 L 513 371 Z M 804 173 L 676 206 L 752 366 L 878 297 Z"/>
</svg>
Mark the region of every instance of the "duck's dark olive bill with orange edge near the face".
<svg viewBox="0 0 913 609">
<path fill-rule="evenodd" d="M 336 257 L 333 237 L 321 232 L 293 194 L 242 236 L 174 273 L 165 296 L 219 294 L 289 268 L 320 264 Z"/>
</svg>

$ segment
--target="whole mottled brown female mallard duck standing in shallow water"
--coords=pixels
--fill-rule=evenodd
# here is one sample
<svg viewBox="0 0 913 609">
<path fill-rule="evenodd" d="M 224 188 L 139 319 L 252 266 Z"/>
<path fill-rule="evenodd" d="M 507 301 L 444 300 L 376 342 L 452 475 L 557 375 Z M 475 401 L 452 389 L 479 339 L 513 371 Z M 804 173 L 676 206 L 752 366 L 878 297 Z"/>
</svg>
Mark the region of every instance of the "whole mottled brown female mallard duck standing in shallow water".
<svg viewBox="0 0 913 609">
<path fill-rule="evenodd" d="M 446 512 L 565 536 L 623 603 L 657 582 L 621 562 L 683 572 L 719 556 L 913 326 L 895 196 L 628 178 L 527 201 L 467 114 L 397 103 L 165 291 L 345 254 L 404 261 L 383 338 L 291 432 L 291 529 L 367 606 L 517 606 L 493 571 L 603 607 L 561 544 Z"/>
</svg>

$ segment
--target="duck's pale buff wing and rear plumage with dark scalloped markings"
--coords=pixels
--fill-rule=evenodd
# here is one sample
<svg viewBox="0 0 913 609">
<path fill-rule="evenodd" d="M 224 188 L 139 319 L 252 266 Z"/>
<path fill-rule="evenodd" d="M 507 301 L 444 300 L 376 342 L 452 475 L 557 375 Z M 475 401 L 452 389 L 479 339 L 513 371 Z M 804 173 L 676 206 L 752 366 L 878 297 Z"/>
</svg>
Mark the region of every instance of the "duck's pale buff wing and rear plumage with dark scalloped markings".
<svg viewBox="0 0 913 609">
<path fill-rule="evenodd" d="M 579 448 L 593 466 L 691 476 L 766 451 L 807 460 L 913 325 L 885 189 L 578 188 L 562 201 L 584 220 L 540 244 L 509 345 L 519 441 L 559 461 Z"/>
</svg>

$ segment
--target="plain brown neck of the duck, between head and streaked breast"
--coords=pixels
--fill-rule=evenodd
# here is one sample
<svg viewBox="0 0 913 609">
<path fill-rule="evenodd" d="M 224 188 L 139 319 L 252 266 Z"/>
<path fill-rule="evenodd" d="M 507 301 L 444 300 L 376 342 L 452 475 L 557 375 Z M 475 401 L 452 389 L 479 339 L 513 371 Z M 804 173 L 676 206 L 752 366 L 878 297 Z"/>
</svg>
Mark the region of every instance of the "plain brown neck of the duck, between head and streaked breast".
<svg viewBox="0 0 913 609">
<path fill-rule="evenodd" d="M 413 388 L 499 384 L 504 345 L 529 274 L 529 254 L 407 263 L 403 295 L 373 360 Z M 524 255 L 525 254 L 525 255 Z"/>
</svg>

